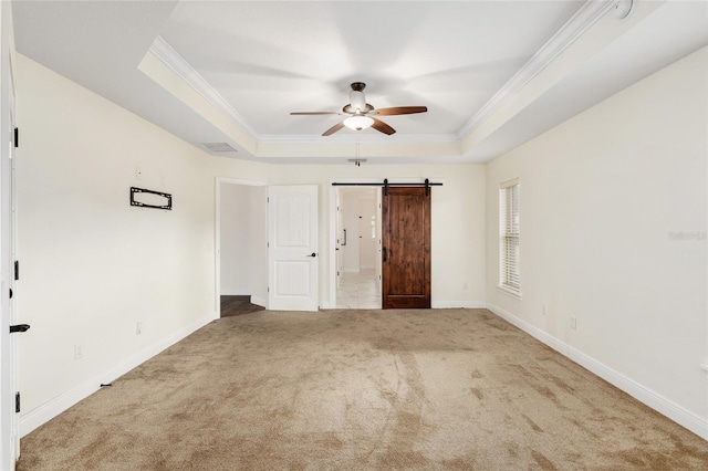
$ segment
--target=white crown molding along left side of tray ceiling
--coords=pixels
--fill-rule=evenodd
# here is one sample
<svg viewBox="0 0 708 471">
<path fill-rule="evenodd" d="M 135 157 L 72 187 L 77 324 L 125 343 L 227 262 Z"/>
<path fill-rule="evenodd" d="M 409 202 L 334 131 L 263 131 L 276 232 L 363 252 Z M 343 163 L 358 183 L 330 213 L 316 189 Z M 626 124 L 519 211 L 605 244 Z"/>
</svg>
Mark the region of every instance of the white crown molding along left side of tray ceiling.
<svg viewBox="0 0 708 471">
<path fill-rule="evenodd" d="M 239 126 L 253 140 L 260 140 L 260 136 L 251 127 L 239 112 L 219 94 L 209 82 L 205 80 L 185 59 L 173 49 L 163 36 L 157 36 L 149 51 L 165 65 L 175 71 L 186 83 L 204 96 L 215 108 L 223 113 L 233 124 Z"/>
</svg>

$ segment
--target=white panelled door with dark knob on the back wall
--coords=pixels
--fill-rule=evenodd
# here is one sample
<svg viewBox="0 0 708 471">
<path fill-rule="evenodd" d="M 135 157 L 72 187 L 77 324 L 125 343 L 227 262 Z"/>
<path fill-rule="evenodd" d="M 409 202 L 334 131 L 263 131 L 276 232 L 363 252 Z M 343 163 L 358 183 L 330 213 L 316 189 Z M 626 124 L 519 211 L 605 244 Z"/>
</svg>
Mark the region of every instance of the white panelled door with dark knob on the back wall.
<svg viewBox="0 0 708 471">
<path fill-rule="evenodd" d="M 268 308 L 317 311 L 317 187 L 268 188 Z"/>
</svg>

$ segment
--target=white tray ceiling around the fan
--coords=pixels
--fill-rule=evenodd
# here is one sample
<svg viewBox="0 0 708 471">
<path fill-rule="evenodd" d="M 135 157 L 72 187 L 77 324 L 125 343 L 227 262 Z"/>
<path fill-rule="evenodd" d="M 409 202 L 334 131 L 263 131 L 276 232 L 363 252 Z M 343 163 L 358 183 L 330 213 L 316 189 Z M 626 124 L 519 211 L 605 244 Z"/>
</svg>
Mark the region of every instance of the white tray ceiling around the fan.
<svg viewBox="0 0 708 471">
<path fill-rule="evenodd" d="M 227 157 L 478 163 L 708 44 L 705 1 L 634 0 L 623 20 L 615 3 L 15 0 L 13 17 L 20 53 Z M 340 111 L 357 81 L 375 107 L 428 113 L 382 118 L 393 136 L 290 116 Z"/>
</svg>

